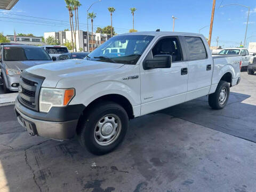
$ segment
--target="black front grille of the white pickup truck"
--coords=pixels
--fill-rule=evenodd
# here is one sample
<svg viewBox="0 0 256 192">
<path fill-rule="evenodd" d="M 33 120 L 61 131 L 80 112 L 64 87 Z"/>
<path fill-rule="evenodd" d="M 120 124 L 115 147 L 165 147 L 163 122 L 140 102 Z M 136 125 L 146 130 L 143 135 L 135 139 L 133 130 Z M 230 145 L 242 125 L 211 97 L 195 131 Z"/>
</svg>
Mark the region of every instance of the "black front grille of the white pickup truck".
<svg viewBox="0 0 256 192">
<path fill-rule="evenodd" d="M 21 89 L 19 91 L 18 100 L 23 106 L 39 111 L 39 92 L 43 81 L 44 77 L 30 74 L 27 71 L 21 73 Z"/>
</svg>

